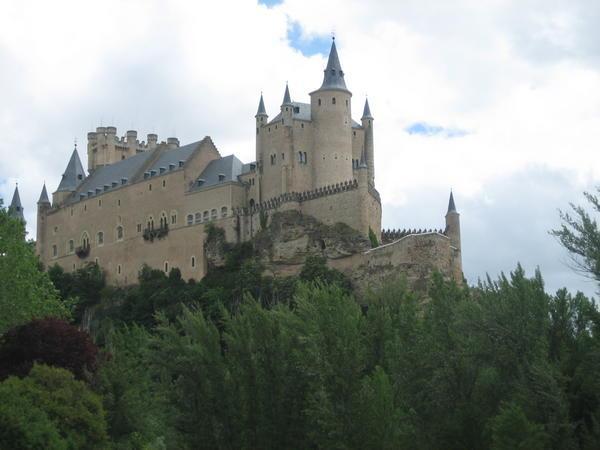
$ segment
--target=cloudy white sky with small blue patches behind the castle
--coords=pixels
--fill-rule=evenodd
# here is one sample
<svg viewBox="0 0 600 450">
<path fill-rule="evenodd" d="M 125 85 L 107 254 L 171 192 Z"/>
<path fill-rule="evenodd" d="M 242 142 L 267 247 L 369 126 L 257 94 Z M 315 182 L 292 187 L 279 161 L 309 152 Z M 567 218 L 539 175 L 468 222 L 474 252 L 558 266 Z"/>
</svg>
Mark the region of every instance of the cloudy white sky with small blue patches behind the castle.
<svg viewBox="0 0 600 450">
<path fill-rule="evenodd" d="M 600 180 L 599 21 L 597 0 L 6 0 L 0 198 L 19 183 L 35 237 L 43 182 L 100 125 L 249 162 L 260 92 L 271 117 L 286 82 L 308 102 L 335 35 L 383 227 L 443 227 L 452 189 L 470 283 L 521 263 L 595 295 L 549 231 Z"/>
</svg>

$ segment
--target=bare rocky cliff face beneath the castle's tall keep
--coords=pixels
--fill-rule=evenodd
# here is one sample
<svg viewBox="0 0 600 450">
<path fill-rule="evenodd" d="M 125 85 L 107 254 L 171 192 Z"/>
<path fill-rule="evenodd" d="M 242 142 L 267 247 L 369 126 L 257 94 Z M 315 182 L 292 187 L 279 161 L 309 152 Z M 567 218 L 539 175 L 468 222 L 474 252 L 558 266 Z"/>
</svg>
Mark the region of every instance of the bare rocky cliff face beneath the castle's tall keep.
<svg viewBox="0 0 600 450">
<path fill-rule="evenodd" d="M 328 260 L 363 253 L 369 240 L 343 223 L 325 225 L 315 218 L 290 210 L 277 212 L 254 240 L 258 256 L 267 265 L 299 265 L 307 256 Z"/>
</svg>

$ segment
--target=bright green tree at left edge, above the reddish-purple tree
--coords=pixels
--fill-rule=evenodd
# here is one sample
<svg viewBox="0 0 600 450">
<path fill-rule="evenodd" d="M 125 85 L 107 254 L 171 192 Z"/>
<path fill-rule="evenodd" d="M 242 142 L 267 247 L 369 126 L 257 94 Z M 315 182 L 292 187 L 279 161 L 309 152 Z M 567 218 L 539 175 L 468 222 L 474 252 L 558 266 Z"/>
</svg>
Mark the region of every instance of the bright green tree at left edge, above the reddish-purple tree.
<svg viewBox="0 0 600 450">
<path fill-rule="evenodd" d="M 0 334 L 36 317 L 69 316 L 34 248 L 25 242 L 25 227 L 0 207 Z"/>
</svg>

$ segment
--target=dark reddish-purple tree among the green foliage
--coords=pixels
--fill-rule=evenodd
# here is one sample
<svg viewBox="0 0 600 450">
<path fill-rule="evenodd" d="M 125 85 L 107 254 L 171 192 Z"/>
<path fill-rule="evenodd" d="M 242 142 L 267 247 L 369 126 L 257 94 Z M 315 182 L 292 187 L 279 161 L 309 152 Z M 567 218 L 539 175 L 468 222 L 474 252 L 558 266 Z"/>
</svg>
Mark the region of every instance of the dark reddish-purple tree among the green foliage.
<svg viewBox="0 0 600 450">
<path fill-rule="evenodd" d="M 98 347 L 90 336 L 60 319 L 38 319 L 0 337 L 0 381 L 26 376 L 34 363 L 62 367 L 77 378 L 97 368 Z"/>
</svg>

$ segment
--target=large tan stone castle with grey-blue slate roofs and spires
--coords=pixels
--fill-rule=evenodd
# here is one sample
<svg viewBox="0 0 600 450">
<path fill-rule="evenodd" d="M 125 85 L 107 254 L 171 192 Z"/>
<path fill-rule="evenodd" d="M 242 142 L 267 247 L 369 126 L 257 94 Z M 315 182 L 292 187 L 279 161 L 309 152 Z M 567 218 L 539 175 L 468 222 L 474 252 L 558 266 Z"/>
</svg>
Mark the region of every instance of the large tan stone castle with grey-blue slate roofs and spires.
<svg viewBox="0 0 600 450">
<path fill-rule="evenodd" d="M 294 211 L 324 226 L 345 224 L 365 242 L 381 245 L 332 254 L 332 235 L 316 244 L 288 236 L 277 244 L 279 255 L 320 252 L 357 282 L 394 273 L 423 279 L 432 270 L 462 281 L 452 194 L 443 230 L 381 230 L 374 118 L 368 101 L 360 123 L 351 107 L 333 41 L 310 104 L 292 101 L 286 85 L 280 111 L 269 120 L 261 94 L 254 162 L 221 156 L 210 137 L 181 146 L 177 138 L 159 143 L 148 134 L 140 142 L 136 131 L 118 137 L 115 127 L 98 127 L 88 133 L 89 174 L 75 148 L 52 202 L 42 189 L 37 253 L 46 267 L 65 270 L 95 261 L 113 284 L 134 283 L 143 264 L 165 272 L 177 267 L 185 279 L 198 280 L 208 266 L 207 223 L 222 228 L 228 242 L 244 242 L 268 229 L 277 214 Z M 16 197 L 9 209 L 22 217 L 18 191 Z M 294 264 L 286 266 L 284 255 L 272 270 L 284 273 Z"/>
</svg>

